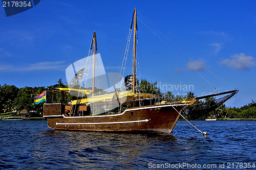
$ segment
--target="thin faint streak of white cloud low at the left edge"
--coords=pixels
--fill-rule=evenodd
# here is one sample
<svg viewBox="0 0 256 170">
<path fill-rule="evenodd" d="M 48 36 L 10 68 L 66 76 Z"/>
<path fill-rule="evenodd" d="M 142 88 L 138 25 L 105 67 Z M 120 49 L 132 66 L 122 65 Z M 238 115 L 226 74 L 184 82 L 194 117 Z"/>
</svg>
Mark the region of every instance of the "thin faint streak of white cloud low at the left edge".
<svg viewBox="0 0 256 170">
<path fill-rule="evenodd" d="M 0 65 L 1 72 L 15 72 L 15 71 L 35 71 L 35 70 L 56 70 L 64 69 L 66 65 L 63 65 L 63 61 L 54 61 L 54 62 L 39 62 L 34 64 L 25 64 L 25 65 Z"/>
</svg>

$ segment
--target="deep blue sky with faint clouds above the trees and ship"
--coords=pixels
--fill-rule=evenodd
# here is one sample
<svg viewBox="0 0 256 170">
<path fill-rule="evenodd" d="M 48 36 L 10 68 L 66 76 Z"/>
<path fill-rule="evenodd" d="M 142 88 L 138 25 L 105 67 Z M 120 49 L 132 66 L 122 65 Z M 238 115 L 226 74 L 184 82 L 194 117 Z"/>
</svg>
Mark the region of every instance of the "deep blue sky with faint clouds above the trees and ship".
<svg viewBox="0 0 256 170">
<path fill-rule="evenodd" d="M 9 17 L 1 7 L 0 84 L 65 81 L 94 31 L 106 72 L 119 72 L 135 7 L 143 78 L 180 94 L 193 85 L 198 96 L 238 88 L 231 107 L 256 100 L 255 1 L 41 1 Z"/>
</svg>

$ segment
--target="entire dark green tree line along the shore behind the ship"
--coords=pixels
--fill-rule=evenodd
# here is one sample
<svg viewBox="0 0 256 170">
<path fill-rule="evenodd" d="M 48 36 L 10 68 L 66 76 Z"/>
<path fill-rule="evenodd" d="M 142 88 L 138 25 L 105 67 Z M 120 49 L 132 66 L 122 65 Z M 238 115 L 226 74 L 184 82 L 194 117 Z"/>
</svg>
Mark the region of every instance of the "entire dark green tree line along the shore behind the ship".
<svg viewBox="0 0 256 170">
<path fill-rule="evenodd" d="M 140 82 L 137 81 L 137 92 L 140 93 L 151 93 L 159 96 L 159 102 L 177 102 L 183 100 L 189 100 L 196 97 L 193 92 L 188 92 L 186 95 L 175 95 L 171 91 L 161 92 L 160 88 L 157 87 L 157 82 L 150 82 L 142 79 Z M 47 92 L 47 103 L 64 103 L 68 104 L 71 100 L 77 98 L 70 95 L 65 91 L 59 91 L 56 88 L 67 88 L 61 79 L 58 83 L 48 87 L 23 87 L 18 88 L 14 85 L 4 84 L 0 85 L 0 113 L 2 112 L 20 112 L 23 109 L 27 109 L 29 112 L 34 111 L 38 113 L 43 112 L 43 104 L 34 104 L 34 97 L 44 91 Z M 129 90 L 129 89 L 128 89 Z M 210 104 L 215 101 L 215 98 L 206 98 L 204 101 L 197 101 L 197 104 L 205 102 Z M 256 103 L 252 100 L 251 103 L 240 108 L 226 107 L 225 104 L 221 105 L 216 109 L 217 118 L 256 118 Z M 187 115 L 189 118 L 189 115 Z M 205 119 L 208 117 L 215 117 L 214 112 L 204 113 L 203 115 L 193 115 L 192 119 Z"/>
</svg>

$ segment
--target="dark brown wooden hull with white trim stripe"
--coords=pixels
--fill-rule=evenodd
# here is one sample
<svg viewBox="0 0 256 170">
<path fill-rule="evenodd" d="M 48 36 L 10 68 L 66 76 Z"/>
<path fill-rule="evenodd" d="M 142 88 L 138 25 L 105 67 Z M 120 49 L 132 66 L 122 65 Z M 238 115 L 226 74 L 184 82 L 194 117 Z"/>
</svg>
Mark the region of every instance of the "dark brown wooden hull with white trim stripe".
<svg viewBox="0 0 256 170">
<path fill-rule="evenodd" d="M 48 126 L 59 130 L 110 132 L 172 132 L 184 105 L 154 105 L 127 108 L 122 113 L 97 116 L 65 116 L 61 104 L 45 104 Z M 175 109 L 177 110 L 175 110 Z"/>
</svg>

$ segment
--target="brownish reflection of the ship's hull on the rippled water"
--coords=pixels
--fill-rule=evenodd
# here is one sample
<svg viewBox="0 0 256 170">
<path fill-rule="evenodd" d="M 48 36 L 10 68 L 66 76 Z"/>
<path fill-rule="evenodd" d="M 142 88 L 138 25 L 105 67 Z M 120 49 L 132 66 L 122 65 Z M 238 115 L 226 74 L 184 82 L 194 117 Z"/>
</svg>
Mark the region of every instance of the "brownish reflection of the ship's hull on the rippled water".
<svg viewBox="0 0 256 170">
<path fill-rule="evenodd" d="M 95 163 L 108 167 L 130 166 L 148 162 L 148 159 L 157 161 L 152 153 L 162 154 L 159 148 L 169 145 L 173 147 L 177 142 L 173 134 L 167 133 L 105 133 L 105 132 L 77 132 L 48 130 L 44 134 L 51 143 L 46 152 L 58 152 L 58 159 L 69 159 L 69 164 L 78 167 L 82 165 L 92 168 Z M 61 152 L 59 148 L 61 145 Z M 65 154 L 63 154 L 63 152 Z M 62 158 L 60 154 L 62 153 Z M 159 155 L 159 159 L 161 156 Z M 55 161 L 52 158 L 52 161 Z M 71 161 L 73 160 L 73 161 Z M 85 165 L 89 163 L 90 165 Z M 106 163 L 109 162 L 109 163 Z"/>
</svg>

